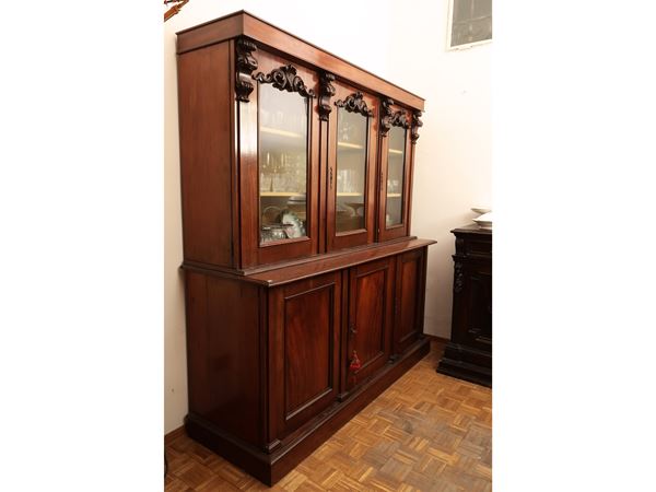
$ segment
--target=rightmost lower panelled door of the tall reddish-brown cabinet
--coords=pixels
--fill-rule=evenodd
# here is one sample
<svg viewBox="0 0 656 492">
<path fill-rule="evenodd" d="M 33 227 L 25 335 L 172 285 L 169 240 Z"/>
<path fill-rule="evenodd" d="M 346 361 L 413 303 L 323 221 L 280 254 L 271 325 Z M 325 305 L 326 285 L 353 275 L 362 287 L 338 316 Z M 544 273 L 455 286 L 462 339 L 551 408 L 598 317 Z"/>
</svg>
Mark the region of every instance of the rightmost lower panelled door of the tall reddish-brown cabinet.
<svg viewBox="0 0 656 492">
<path fill-rule="evenodd" d="M 394 352 L 399 354 L 423 332 L 425 248 L 397 257 Z"/>
</svg>

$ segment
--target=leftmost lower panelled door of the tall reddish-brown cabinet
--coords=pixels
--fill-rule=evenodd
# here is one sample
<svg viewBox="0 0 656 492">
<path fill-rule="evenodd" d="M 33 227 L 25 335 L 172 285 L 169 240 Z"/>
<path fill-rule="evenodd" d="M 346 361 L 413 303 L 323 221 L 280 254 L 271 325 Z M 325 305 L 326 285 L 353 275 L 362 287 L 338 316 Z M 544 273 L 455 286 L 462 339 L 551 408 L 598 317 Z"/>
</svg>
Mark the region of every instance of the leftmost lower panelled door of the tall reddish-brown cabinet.
<svg viewBox="0 0 656 492">
<path fill-rule="evenodd" d="M 340 272 L 269 293 L 270 445 L 337 398 L 340 304 Z"/>
</svg>

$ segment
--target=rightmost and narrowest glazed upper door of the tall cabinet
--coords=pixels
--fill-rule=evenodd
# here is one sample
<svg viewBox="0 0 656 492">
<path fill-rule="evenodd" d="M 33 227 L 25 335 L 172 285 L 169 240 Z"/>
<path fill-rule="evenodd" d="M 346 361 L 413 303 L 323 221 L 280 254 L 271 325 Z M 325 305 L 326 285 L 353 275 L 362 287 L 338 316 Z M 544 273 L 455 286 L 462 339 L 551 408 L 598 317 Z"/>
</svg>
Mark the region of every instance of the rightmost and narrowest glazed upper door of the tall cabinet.
<svg viewBox="0 0 656 492">
<path fill-rule="evenodd" d="M 387 115 L 385 110 L 388 108 Z M 380 109 L 380 187 L 378 199 L 378 241 L 409 235 L 412 178 L 411 121 L 409 110 L 396 105 Z M 387 118 L 388 129 L 385 128 Z"/>
</svg>

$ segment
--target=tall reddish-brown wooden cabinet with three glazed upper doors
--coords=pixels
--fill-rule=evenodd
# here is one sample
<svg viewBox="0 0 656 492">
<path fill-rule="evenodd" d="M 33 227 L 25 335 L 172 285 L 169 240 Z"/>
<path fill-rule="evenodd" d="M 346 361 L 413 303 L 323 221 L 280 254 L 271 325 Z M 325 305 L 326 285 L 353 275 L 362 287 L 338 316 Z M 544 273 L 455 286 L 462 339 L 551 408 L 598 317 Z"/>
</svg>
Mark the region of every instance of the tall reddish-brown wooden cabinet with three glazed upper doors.
<svg viewBox="0 0 656 492">
<path fill-rule="evenodd" d="M 243 11 L 177 55 L 185 425 L 272 484 L 429 351 L 424 101 Z"/>
</svg>

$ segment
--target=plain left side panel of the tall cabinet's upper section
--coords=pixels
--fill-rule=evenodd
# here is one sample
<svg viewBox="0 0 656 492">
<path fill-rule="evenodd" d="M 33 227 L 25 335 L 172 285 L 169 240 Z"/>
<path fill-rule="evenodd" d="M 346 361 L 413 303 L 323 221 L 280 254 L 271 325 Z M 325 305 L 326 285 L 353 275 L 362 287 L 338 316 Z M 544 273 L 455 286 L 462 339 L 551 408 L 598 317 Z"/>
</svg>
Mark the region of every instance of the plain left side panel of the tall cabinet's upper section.
<svg viewBox="0 0 656 492">
<path fill-rule="evenodd" d="M 185 259 L 235 267 L 229 60 L 227 43 L 178 57 L 180 191 Z"/>
</svg>

